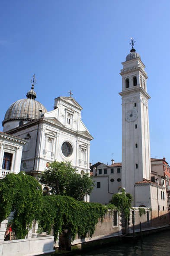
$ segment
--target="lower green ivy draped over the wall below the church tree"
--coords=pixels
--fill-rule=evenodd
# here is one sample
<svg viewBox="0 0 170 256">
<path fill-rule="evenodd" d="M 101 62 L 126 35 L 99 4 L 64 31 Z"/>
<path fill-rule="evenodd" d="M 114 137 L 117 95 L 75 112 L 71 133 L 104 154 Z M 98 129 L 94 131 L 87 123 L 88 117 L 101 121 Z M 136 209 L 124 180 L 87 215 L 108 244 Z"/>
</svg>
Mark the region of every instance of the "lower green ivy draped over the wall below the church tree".
<svg viewBox="0 0 170 256">
<path fill-rule="evenodd" d="M 55 238 L 58 232 L 62 233 L 63 228 L 69 230 L 72 240 L 77 233 L 81 237 L 86 237 L 87 233 L 92 236 L 98 221 L 102 221 L 104 214 L 113 208 L 112 205 L 80 202 L 67 196 L 45 196 L 40 225 L 48 234 L 53 226 Z"/>
</svg>

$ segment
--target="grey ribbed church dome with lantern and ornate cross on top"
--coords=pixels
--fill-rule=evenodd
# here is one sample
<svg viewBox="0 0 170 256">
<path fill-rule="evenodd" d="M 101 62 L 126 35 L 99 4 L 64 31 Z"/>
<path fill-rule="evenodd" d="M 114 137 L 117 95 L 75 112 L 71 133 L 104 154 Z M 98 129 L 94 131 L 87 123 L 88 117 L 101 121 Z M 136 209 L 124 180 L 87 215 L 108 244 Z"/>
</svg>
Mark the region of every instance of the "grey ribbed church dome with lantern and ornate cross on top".
<svg viewBox="0 0 170 256">
<path fill-rule="evenodd" d="M 35 77 L 33 81 L 35 83 Z M 42 114 L 47 112 L 45 106 L 35 100 L 36 92 L 33 90 L 34 83 L 32 85 L 32 89 L 27 92 L 26 98 L 19 99 L 10 105 L 6 111 L 2 125 L 13 120 L 26 120 L 27 122 L 32 121 L 40 118 Z"/>
</svg>

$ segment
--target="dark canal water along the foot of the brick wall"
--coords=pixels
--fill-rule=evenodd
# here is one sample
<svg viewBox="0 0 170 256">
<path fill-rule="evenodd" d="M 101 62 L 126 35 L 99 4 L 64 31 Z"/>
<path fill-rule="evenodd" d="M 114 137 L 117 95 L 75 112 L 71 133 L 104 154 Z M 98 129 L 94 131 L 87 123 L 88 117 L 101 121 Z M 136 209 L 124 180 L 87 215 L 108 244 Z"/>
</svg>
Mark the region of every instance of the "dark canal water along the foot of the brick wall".
<svg viewBox="0 0 170 256">
<path fill-rule="evenodd" d="M 119 243 L 79 256 L 170 256 L 170 230 L 143 237 L 143 243 Z"/>
</svg>

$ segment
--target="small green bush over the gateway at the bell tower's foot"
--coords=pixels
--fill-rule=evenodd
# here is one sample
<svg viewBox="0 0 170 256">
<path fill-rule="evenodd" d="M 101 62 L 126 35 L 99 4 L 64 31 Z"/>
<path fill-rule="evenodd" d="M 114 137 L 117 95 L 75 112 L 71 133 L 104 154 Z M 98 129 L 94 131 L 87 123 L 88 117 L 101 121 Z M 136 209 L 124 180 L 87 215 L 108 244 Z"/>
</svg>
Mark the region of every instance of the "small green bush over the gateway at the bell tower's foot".
<svg viewBox="0 0 170 256">
<path fill-rule="evenodd" d="M 132 207 L 132 200 L 132 195 L 128 193 L 126 194 L 125 190 L 122 189 L 121 193 L 113 195 L 112 199 L 109 202 L 117 207 L 117 210 L 124 211 L 125 219 L 128 219 L 128 216 L 130 214 L 129 208 Z"/>
</svg>

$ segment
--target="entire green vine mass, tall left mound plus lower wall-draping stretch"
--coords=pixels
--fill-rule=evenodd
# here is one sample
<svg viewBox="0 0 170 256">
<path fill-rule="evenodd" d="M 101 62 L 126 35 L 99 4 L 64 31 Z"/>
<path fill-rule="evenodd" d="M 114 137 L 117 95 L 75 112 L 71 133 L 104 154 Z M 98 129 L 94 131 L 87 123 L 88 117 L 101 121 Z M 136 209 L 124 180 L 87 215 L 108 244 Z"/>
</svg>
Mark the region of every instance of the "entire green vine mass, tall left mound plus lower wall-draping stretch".
<svg viewBox="0 0 170 256">
<path fill-rule="evenodd" d="M 41 185 L 34 177 L 20 172 L 7 174 L 0 181 L 0 222 L 13 212 L 13 230 L 18 239 L 28 233 L 34 219 L 38 221 L 38 232 L 50 234 L 54 228 L 55 238 L 63 229 L 69 230 L 74 240 L 76 233 L 85 237 L 93 235 L 96 224 L 112 205 L 76 201 L 72 197 L 42 194 Z"/>
</svg>

